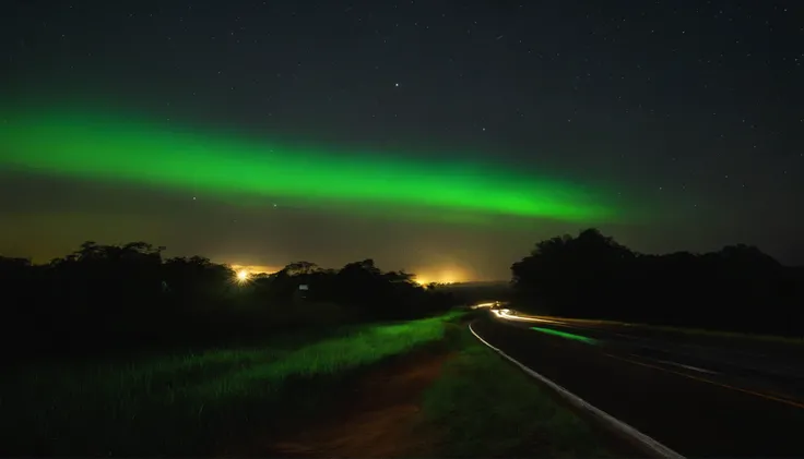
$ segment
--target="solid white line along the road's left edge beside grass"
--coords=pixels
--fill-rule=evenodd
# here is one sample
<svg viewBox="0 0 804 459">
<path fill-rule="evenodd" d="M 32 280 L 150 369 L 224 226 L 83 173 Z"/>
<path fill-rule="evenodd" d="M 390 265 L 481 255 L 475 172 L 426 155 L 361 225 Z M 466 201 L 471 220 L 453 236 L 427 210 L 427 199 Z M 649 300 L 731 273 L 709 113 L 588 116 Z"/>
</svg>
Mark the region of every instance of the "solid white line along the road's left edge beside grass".
<svg viewBox="0 0 804 459">
<path fill-rule="evenodd" d="M 503 352 L 499 348 L 495 348 L 492 346 L 488 341 L 481 338 L 480 335 L 472 328 L 472 324 L 469 324 L 469 330 L 472 331 L 472 335 L 475 336 L 481 342 L 486 345 L 488 348 L 497 352 L 498 354 L 503 355 L 505 359 L 511 361 L 515 365 L 519 366 L 523 372 L 525 372 L 528 375 L 541 381 L 547 387 L 558 392 L 561 397 L 566 398 L 570 403 L 575 404 L 576 407 L 587 410 L 598 416 L 598 419 L 607 424 L 610 427 L 619 431 L 620 433 L 634 438 L 635 440 L 639 442 L 645 446 L 646 448 L 650 449 L 653 454 L 655 454 L 658 457 L 662 457 L 665 459 L 686 459 L 684 456 L 679 455 L 678 452 L 667 448 L 666 446 L 662 445 L 661 443 L 657 442 L 655 439 L 649 437 L 648 435 L 645 435 L 643 433 L 637 431 L 636 428 L 631 427 L 630 425 L 626 424 L 625 422 L 614 418 L 613 415 L 606 413 L 605 411 L 599 409 L 598 407 L 594 407 L 583 400 L 582 398 L 578 397 L 577 395 L 570 392 L 569 390 L 565 389 L 564 387 L 559 386 L 558 384 L 552 382 L 551 379 L 547 379 L 545 376 L 542 376 L 541 374 L 534 372 L 530 367 L 525 366 L 524 364 L 520 363 L 512 357 L 508 355 L 507 353 Z"/>
</svg>

